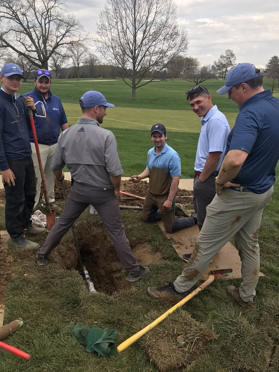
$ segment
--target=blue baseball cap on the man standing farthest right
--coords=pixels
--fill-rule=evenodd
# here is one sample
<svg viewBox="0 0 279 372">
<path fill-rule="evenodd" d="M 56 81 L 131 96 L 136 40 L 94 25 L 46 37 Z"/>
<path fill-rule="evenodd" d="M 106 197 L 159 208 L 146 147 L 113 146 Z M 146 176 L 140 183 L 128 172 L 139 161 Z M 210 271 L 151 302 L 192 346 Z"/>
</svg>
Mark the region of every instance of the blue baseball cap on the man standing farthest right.
<svg viewBox="0 0 279 372">
<path fill-rule="evenodd" d="M 255 68 L 251 63 L 239 63 L 234 66 L 226 76 L 225 85 L 218 89 L 217 93 L 225 94 L 236 84 L 262 76 L 261 72 L 255 73 Z"/>
</svg>

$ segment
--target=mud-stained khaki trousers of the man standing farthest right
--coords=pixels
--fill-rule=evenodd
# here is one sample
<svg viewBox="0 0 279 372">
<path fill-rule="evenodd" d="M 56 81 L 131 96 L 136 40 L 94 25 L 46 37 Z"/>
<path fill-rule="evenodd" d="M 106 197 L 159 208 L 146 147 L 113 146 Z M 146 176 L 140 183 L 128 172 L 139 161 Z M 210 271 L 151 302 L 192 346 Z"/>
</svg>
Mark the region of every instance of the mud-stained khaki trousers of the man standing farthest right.
<svg viewBox="0 0 279 372">
<path fill-rule="evenodd" d="M 188 291 L 205 272 L 215 254 L 234 237 L 241 259 L 243 301 L 253 301 L 259 279 L 260 249 L 258 232 L 263 209 L 269 205 L 273 186 L 263 194 L 222 189 L 206 208 L 206 218 L 193 254 L 174 282 L 178 292 Z M 228 269 L 230 268 L 228 260 Z"/>
</svg>

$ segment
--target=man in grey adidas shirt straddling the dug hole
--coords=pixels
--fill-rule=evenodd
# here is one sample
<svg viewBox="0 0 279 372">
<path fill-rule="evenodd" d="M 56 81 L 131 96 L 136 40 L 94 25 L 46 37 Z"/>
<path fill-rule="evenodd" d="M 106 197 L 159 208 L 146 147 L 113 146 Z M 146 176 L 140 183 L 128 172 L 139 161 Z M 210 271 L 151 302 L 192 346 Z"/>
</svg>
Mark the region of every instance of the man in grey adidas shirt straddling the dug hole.
<svg viewBox="0 0 279 372">
<path fill-rule="evenodd" d="M 90 90 L 80 99 L 82 117 L 76 125 L 62 132 L 51 163 L 59 181 L 64 179 L 62 169 L 67 164 L 74 179 L 62 215 L 52 227 L 44 245 L 37 251 L 39 265 L 48 263 L 49 253 L 60 243 L 81 213 L 94 205 L 115 246 L 118 258 L 128 272 L 126 280 L 137 282 L 148 275 L 132 254 L 124 232 L 119 203 L 121 174 L 117 143 L 112 132 L 101 128 L 107 107 L 103 94 Z"/>
</svg>

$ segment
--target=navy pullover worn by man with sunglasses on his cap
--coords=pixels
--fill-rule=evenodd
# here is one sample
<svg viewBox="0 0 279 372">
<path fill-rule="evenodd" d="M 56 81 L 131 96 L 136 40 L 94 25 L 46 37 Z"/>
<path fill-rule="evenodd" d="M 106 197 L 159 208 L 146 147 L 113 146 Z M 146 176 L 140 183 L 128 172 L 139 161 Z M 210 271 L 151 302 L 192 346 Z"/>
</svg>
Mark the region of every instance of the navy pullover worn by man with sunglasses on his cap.
<svg viewBox="0 0 279 372">
<path fill-rule="evenodd" d="M 54 145 L 58 141 L 60 127 L 67 123 L 66 114 L 59 97 L 48 92 L 48 99 L 34 88 L 32 92 L 23 94 L 32 97 L 36 106 L 36 135 L 38 143 Z M 30 142 L 34 142 L 32 131 L 29 131 Z"/>
</svg>

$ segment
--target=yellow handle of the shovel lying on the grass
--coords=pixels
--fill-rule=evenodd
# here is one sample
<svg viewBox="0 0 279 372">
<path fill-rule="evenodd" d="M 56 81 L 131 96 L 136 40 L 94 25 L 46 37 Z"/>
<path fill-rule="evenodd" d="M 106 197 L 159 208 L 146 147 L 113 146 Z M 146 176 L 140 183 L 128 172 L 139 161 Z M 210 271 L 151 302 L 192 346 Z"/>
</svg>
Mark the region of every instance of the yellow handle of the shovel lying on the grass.
<svg viewBox="0 0 279 372">
<path fill-rule="evenodd" d="M 205 287 L 207 287 L 210 283 L 214 280 L 214 275 L 209 275 L 208 279 L 203 282 L 198 288 L 195 289 L 195 291 L 191 292 L 188 296 L 184 297 L 181 301 L 177 302 L 176 305 L 171 307 L 169 310 L 164 312 L 160 317 L 158 317 L 156 320 L 154 320 L 152 323 L 148 324 L 145 328 L 135 333 L 133 336 L 129 337 L 127 340 L 123 341 L 120 345 L 117 347 L 117 351 L 121 353 L 123 350 L 125 350 L 128 346 L 130 346 L 132 343 L 140 339 L 141 336 L 143 336 L 145 333 L 150 331 L 152 328 L 154 328 L 157 324 L 161 323 L 169 314 L 174 312 L 179 307 L 182 307 L 186 302 L 188 302 L 191 298 L 193 298 L 196 294 L 201 292 Z"/>
</svg>

